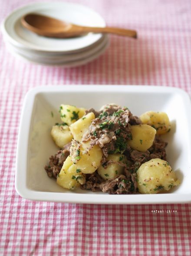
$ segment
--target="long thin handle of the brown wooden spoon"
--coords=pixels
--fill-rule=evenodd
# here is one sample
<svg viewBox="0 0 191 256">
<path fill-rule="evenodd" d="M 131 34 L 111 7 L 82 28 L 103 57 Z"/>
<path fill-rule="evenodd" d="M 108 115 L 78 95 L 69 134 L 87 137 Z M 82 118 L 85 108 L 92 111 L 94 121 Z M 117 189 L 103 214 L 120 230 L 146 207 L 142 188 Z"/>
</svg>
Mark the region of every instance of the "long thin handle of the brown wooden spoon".
<svg viewBox="0 0 191 256">
<path fill-rule="evenodd" d="M 127 36 L 131 38 L 137 38 L 137 32 L 135 30 L 117 28 L 117 27 L 83 27 L 84 32 L 95 32 L 95 33 L 111 33 L 120 36 Z"/>
</svg>

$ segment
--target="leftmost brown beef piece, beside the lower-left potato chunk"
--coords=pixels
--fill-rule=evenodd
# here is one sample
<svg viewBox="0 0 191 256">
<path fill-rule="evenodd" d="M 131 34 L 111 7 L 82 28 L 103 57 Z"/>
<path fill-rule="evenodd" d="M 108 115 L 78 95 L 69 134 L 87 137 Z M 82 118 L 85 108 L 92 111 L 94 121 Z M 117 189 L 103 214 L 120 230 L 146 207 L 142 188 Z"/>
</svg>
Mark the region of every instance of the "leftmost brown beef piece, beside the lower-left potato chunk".
<svg viewBox="0 0 191 256">
<path fill-rule="evenodd" d="M 60 170 L 63 167 L 63 163 L 66 158 L 69 156 L 69 150 L 58 150 L 58 152 L 49 157 L 49 165 L 45 166 L 46 173 L 49 177 L 57 178 Z"/>
</svg>

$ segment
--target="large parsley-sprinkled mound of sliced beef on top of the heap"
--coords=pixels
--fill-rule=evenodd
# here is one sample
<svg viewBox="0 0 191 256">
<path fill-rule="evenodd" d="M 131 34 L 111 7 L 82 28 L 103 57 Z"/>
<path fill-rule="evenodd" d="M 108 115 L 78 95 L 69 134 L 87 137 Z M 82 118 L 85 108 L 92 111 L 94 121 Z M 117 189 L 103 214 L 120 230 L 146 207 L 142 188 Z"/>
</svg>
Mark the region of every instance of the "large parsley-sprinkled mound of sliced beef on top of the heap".
<svg viewBox="0 0 191 256">
<path fill-rule="evenodd" d="M 90 145 L 99 145 L 105 157 L 113 153 L 122 153 L 126 149 L 126 140 L 131 139 L 128 124 L 132 113 L 118 105 L 106 105 L 100 115 L 92 121 L 89 130 L 83 135 L 82 141 L 90 140 Z M 112 148 L 112 149 L 111 149 Z"/>
</svg>

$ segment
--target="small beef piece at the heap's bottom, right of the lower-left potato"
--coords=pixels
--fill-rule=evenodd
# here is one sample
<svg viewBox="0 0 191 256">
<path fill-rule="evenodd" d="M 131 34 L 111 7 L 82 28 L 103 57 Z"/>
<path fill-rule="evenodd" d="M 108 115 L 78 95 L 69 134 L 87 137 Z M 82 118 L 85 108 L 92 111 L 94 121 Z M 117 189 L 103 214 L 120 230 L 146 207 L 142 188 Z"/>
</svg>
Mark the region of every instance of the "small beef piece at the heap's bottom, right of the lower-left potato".
<svg viewBox="0 0 191 256">
<path fill-rule="evenodd" d="M 83 189 L 91 189 L 93 192 L 100 191 L 99 186 L 103 181 L 102 177 L 95 171 L 92 174 L 86 174 L 86 183 L 81 187 Z"/>
</svg>

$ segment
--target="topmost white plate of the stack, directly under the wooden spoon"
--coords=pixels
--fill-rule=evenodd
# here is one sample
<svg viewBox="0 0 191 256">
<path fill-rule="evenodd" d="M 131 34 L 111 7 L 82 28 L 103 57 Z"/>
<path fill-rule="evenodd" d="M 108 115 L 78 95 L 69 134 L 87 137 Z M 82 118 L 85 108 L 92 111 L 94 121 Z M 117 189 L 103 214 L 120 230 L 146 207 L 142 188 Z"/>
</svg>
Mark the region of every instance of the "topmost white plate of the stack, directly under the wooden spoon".
<svg viewBox="0 0 191 256">
<path fill-rule="evenodd" d="M 27 13 L 40 13 L 74 24 L 105 27 L 105 20 L 89 7 L 76 3 L 32 3 L 13 11 L 3 22 L 4 37 L 16 47 L 36 51 L 70 52 L 80 51 L 96 44 L 102 34 L 89 33 L 83 37 L 56 39 L 38 36 L 21 25 L 20 18 Z"/>
</svg>

